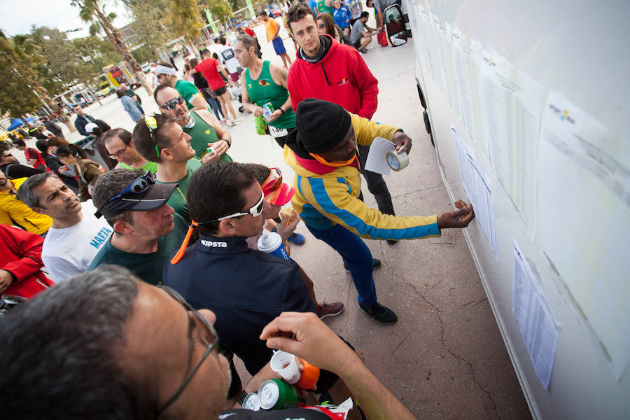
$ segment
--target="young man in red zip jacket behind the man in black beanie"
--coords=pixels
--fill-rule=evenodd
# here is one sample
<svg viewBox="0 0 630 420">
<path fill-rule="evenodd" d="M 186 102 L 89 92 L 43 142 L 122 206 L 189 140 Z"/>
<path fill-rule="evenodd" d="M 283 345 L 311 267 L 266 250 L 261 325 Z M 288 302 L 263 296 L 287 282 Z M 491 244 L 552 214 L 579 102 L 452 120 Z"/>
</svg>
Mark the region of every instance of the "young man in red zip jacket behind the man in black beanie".
<svg viewBox="0 0 630 420">
<path fill-rule="evenodd" d="M 307 98 L 341 105 L 351 113 L 372 119 L 377 109 L 379 81 L 356 48 L 320 35 L 315 13 L 304 3 L 295 3 L 286 20 L 293 39 L 300 45 L 297 59 L 289 69 L 287 83 L 293 111 Z M 370 146 L 357 145 L 361 173 L 383 214 L 394 214 L 391 195 L 381 174 L 365 171 Z M 363 200 L 363 196 L 359 197 Z M 388 240 L 394 244 L 394 240 Z"/>
</svg>

